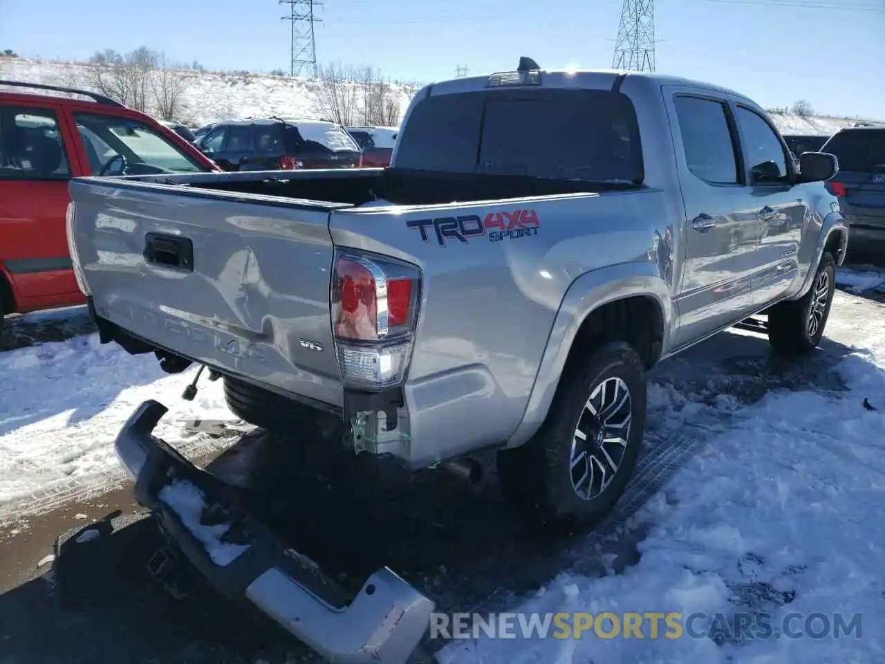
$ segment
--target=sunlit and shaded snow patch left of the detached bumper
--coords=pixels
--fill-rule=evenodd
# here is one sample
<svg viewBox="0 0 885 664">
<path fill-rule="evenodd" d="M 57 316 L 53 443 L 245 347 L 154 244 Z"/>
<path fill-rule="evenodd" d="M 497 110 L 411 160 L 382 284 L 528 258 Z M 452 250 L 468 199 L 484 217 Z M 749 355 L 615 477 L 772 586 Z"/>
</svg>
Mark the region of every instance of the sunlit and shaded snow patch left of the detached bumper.
<svg viewBox="0 0 885 664">
<path fill-rule="evenodd" d="M 97 335 L 0 353 L 0 521 L 25 498 L 68 494 L 121 476 L 114 437 L 147 399 L 169 407 L 156 433 L 182 452 L 218 445 L 185 436 L 178 425 L 190 417 L 235 419 L 220 381 L 204 378 L 194 401 L 181 399 L 195 370 L 164 374 L 152 356 L 99 344 Z"/>
</svg>

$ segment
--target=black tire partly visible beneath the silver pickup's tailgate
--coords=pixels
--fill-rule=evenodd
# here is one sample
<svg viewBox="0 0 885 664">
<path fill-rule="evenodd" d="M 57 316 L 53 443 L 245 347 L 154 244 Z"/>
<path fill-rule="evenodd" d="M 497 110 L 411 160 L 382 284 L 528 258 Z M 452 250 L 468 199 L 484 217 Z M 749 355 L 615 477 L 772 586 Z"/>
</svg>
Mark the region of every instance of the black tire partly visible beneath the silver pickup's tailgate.
<svg viewBox="0 0 885 664">
<path fill-rule="evenodd" d="M 307 430 L 326 430 L 338 424 L 332 415 L 298 404 L 269 390 L 224 377 L 224 396 L 227 407 L 240 419 L 261 429 L 281 434 L 306 433 Z"/>
</svg>

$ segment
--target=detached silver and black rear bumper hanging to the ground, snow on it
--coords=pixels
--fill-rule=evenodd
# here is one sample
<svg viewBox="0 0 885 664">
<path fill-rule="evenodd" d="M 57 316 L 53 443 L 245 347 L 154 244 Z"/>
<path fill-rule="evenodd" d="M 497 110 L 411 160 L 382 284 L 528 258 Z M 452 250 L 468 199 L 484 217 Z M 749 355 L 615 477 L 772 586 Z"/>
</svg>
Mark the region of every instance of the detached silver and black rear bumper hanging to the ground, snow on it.
<svg viewBox="0 0 885 664">
<path fill-rule="evenodd" d="M 246 599 L 333 662 L 404 664 L 434 603 L 387 567 L 356 597 L 242 509 L 238 490 L 184 459 L 151 432 L 165 405 L 146 401 L 116 441 L 135 499 L 220 595 Z"/>
</svg>

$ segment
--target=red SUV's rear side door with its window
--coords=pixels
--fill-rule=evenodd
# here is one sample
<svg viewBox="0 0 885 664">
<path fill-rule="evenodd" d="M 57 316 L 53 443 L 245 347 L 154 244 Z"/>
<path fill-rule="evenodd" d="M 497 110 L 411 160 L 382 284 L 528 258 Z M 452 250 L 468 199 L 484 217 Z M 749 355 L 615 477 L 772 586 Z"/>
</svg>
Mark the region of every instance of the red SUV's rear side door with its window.
<svg viewBox="0 0 885 664">
<path fill-rule="evenodd" d="M 81 174 L 80 164 L 64 127 L 51 99 L 0 101 L 0 277 L 14 298 L 7 308 L 84 301 L 65 235 L 68 180 Z"/>
</svg>

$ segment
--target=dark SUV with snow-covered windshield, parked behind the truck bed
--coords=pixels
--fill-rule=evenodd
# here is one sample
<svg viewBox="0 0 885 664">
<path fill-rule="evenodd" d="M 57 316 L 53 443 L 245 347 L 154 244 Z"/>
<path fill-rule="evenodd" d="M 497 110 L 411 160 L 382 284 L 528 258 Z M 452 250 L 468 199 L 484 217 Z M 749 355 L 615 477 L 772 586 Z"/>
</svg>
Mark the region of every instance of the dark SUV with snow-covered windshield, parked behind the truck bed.
<svg viewBox="0 0 885 664">
<path fill-rule="evenodd" d="M 321 120 L 230 120 L 196 142 L 226 171 L 353 168 L 359 146 L 342 127 Z"/>
</svg>

